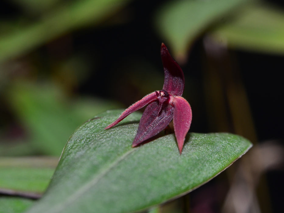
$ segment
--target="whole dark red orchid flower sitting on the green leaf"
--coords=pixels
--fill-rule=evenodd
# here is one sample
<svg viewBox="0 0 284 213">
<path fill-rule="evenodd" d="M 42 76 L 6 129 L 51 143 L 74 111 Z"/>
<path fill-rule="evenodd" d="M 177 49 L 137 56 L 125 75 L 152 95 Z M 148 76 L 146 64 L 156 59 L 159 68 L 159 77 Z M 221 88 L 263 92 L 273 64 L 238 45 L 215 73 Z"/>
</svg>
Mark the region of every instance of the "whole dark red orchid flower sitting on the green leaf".
<svg viewBox="0 0 284 213">
<path fill-rule="evenodd" d="M 181 154 L 192 118 L 189 103 L 181 97 L 184 91 L 184 73 L 163 43 L 161 45 L 161 58 L 165 73 L 163 89 L 150 93 L 129 106 L 117 120 L 105 129 L 115 126 L 129 114 L 149 104 L 142 114 L 132 147 L 136 147 L 155 136 L 165 129 L 171 120 L 174 120 L 174 132 Z"/>
</svg>

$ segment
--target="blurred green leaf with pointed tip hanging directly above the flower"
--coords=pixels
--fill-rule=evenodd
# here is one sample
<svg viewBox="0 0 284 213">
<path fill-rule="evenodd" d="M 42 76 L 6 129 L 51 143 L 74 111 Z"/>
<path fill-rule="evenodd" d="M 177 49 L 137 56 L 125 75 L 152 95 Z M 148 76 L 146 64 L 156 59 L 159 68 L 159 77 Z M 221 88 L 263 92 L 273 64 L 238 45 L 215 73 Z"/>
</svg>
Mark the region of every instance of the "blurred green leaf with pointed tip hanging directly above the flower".
<svg viewBox="0 0 284 213">
<path fill-rule="evenodd" d="M 177 60 L 184 58 L 193 41 L 208 26 L 250 0 L 179 0 L 163 6 L 156 16 L 156 29 Z M 181 60 L 181 59 L 180 59 Z"/>
</svg>

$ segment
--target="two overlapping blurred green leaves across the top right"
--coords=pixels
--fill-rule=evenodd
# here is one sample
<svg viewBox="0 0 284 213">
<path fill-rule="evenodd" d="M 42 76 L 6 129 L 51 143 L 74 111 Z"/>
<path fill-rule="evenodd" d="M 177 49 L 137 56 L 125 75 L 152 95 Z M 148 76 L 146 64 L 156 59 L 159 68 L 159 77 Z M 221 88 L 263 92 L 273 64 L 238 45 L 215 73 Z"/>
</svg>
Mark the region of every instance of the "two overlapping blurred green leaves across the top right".
<svg viewBox="0 0 284 213">
<path fill-rule="evenodd" d="M 198 36 L 213 31 L 220 44 L 284 54 L 283 10 L 257 0 L 172 1 L 156 16 L 160 34 L 178 60 Z"/>
</svg>

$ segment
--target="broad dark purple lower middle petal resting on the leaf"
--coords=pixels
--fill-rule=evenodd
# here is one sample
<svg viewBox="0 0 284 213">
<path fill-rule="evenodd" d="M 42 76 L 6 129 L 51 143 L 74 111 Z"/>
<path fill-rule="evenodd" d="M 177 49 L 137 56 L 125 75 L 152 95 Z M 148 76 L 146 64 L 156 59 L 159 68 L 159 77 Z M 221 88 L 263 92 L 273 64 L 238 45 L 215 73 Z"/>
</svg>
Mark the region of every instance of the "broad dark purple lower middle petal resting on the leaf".
<svg viewBox="0 0 284 213">
<path fill-rule="evenodd" d="M 174 106 L 166 105 L 160 110 L 158 101 L 150 103 L 142 114 L 132 147 L 141 144 L 165 129 L 173 116 Z"/>
</svg>

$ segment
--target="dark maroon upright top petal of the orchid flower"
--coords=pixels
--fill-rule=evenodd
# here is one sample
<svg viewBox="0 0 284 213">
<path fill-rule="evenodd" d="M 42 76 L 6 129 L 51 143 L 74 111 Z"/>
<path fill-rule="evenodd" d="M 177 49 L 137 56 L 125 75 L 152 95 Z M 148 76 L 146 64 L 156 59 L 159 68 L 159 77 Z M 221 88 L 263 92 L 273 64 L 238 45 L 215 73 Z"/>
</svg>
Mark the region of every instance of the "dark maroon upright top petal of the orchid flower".
<svg viewBox="0 0 284 213">
<path fill-rule="evenodd" d="M 184 91 L 184 73 L 164 43 L 161 46 L 161 58 L 165 73 L 163 89 L 173 96 L 181 96 Z"/>
</svg>

